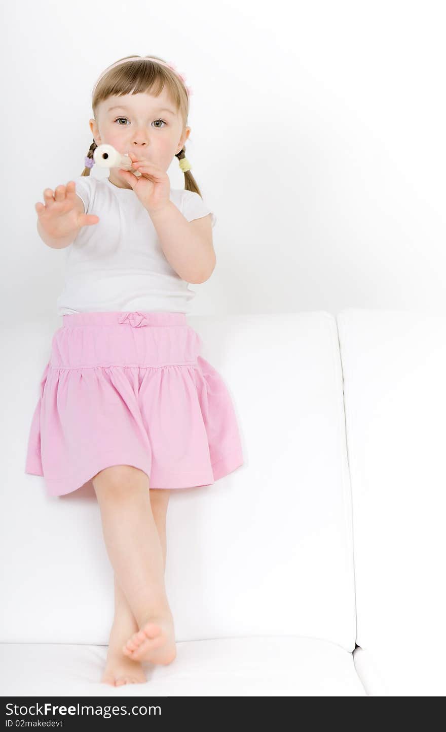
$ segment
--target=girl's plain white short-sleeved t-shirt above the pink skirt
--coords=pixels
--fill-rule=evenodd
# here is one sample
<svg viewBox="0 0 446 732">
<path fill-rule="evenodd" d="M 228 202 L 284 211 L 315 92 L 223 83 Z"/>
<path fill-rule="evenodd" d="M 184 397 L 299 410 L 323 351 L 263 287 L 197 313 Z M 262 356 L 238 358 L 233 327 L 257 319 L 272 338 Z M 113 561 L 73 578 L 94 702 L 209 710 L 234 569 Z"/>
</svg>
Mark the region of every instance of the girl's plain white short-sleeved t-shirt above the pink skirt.
<svg viewBox="0 0 446 732">
<path fill-rule="evenodd" d="M 170 266 L 151 217 L 134 190 L 108 178 L 72 178 L 87 214 L 99 223 L 83 226 L 66 247 L 64 290 L 58 315 L 98 311 L 162 310 L 187 313 L 195 296 Z M 198 193 L 170 189 L 170 201 L 188 221 L 211 213 Z"/>
</svg>

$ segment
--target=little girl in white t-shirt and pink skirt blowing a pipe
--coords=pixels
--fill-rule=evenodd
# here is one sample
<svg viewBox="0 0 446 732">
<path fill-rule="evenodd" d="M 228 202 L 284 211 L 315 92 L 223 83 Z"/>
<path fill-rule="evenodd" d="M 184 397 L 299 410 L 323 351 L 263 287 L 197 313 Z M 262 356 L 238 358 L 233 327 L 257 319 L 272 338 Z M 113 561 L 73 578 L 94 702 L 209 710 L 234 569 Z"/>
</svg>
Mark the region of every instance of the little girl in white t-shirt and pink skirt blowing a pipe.
<svg viewBox="0 0 446 732">
<path fill-rule="evenodd" d="M 114 686 L 146 681 L 143 661 L 175 659 L 164 579 L 170 490 L 243 465 L 230 394 L 186 323 L 188 283 L 208 280 L 216 264 L 216 217 L 185 157 L 184 81 L 156 56 L 108 67 L 93 90 L 86 168 L 35 206 L 39 236 L 68 256 L 26 473 L 45 477 L 50 496 L 94 488 L 114 570 L 102 677 Z M 132 170 L 90 175 L 104 143 L 129 154 Z M 170 189 L 173 156 L 184 190 Z"/>
</svg>

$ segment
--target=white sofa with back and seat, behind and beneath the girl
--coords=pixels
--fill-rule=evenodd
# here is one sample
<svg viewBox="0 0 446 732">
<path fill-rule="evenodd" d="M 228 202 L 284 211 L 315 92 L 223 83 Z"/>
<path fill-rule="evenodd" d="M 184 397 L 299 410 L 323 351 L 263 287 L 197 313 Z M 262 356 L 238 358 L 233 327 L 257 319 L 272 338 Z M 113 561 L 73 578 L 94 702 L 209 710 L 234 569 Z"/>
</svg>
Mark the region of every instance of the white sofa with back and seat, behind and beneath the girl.
<svg viewBox="0 0 446 732">
<path fill-rule="evenodd" d="M 24 473 L 53 322 L 4 341 L 4 696 L 444 695 L 446 316 L 189 315 L 233 395 L 245 463 L 173 491 L 178 655 L 100 682 L 113 570 L 91 483 Z M 272 538 L 271 538 L 272 537 Z"/>
</svg>

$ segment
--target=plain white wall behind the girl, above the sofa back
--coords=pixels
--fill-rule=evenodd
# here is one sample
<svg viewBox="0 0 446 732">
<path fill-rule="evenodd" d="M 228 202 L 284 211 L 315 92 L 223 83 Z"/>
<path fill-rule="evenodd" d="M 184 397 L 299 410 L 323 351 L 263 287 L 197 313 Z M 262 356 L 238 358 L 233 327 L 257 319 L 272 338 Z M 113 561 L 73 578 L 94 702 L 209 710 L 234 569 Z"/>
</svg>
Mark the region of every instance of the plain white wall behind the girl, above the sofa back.
<svg viewBox="0 0 446 732">
<path fill-rule="evenodd" d="M 445 4 L 2 12 L 2 321 L 55 317 L 66 253 L 39 239 L 34 205 L 82 172 L 94 83 L 133 54 L 173 62 L 194 92 L 186 157 L 218 221 L 191 314 L 445 311 Z M 184 186 L 176 158 L 169 175 Z"/>
</svg>

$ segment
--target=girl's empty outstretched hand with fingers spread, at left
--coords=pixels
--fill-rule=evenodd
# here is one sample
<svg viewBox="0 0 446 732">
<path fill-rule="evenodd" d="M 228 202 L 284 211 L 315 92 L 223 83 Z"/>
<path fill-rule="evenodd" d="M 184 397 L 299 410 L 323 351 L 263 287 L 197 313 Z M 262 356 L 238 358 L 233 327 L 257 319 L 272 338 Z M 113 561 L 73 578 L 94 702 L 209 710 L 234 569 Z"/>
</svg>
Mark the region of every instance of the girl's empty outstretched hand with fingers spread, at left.
<svg viewBox="0 0 446 732">
<path fill-rule="evenodd" d="M 82 226 L 99 223 L 94 214 L 84 214 L 79 210 L 80 198 L 76 195 L 76 184 L 69 181 L 66 186 L 58 185 L 56 189 L 45 188 L 44 203 L 36 203 L 35 209 L 42 229 L 55 239 L 58 236 L 75 234 Z"/>
</svg>

